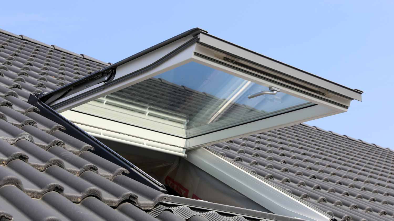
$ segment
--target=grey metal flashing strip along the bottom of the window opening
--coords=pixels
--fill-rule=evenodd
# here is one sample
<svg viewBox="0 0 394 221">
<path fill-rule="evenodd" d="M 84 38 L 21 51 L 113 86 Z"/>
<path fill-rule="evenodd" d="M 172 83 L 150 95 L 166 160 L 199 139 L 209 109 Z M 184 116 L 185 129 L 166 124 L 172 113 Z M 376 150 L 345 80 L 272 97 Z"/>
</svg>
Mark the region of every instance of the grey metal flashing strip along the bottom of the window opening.
<svg viewBox="0 0 394 221">
<path fill-rule="evenodd" d="M 260 212 L 257 210 L 250 210 L 236 206 L 228 206 L 219 203 L 211 203 L 208 201 L 189 199 L 185 197 L 179 197 L 175 195 L 170 195 L 171 201 L 164 200 L 161 204 L 169 206 L 188 206 L 189 208 L 205 209 L 210 211 L 216 211 L 221 214 L 226 214 L 229 216 L 243 216 L 251 219 L 264 219 L 264 220 L 274 220 L 274 221 L 307 221 L 305 219 L 282 216 L 273 213 Z"/>
</svg>

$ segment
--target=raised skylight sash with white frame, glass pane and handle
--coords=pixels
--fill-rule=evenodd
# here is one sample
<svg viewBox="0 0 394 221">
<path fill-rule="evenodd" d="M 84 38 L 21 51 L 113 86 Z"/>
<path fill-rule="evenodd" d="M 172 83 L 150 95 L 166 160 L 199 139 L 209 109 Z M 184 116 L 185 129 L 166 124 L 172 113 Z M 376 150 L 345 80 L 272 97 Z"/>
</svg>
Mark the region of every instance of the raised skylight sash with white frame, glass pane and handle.
<svg viewBox="0 0 394 221">
<path fill-rule="evenodd" d="M 43 100 L 91 133 L 189 149 L 342 113 L 361 93 L 192 29 Z"/>
</svg>

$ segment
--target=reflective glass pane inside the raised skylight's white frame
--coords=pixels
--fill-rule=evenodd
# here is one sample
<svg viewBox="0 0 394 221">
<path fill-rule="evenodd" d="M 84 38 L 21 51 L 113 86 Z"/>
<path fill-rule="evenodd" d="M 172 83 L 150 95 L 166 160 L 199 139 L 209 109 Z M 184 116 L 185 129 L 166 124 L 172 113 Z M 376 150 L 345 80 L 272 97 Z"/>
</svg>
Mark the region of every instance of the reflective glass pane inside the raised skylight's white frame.
<svg viewBox="0 0 394 221">
<path fill-rule="evenodd" d="M 183 138 L 313 105 L 190 62 L 73 110 Z M 126 133 L 126 132 L 125 132 Z"/>
</svg>

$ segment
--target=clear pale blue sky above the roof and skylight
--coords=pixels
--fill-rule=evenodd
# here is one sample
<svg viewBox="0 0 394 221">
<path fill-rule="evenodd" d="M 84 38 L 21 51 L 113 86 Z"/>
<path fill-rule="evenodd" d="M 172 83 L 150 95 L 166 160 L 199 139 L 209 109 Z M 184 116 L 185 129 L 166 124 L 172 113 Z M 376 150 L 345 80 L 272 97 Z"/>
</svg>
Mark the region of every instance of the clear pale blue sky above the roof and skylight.
<svg viewBox="0 0 394 221">
<path fill-rule="evenodd" d="M 19 5 L 19 6 L 18 6 Z M 0 28 L 117 62 L 193 27 L 365 91 L 307 122 L 394 148 L 394 1 L 16 1 Z"/>
</svg>

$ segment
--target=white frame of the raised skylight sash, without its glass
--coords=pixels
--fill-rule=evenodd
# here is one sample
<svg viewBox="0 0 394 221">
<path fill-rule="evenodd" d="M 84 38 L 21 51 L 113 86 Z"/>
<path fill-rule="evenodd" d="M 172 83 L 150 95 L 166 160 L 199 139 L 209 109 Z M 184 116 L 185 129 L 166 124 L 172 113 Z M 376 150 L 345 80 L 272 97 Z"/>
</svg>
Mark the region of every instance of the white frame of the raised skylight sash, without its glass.
<svg viewBox="0 0 394 221">
<path fill-rule="evenodd" d="M 178 39 L 141 57 L 117 66 L 116 75 L 113 80 L 122 79 L 125 76 L 130 75 L 130 73 L 133 73 L 133 71 L 148 66 L 153 61 L 164 57 L 191 38 L 193 37 L 187 36 Z M 238 55 L 238 57 L 242 57 L 243 59 L 240 59 L 235 55 Z M 242 66 L 237 66 L 232 62 L 223 60 L 223 57 L 237 60 L 240 63 L 253 68 L 247 69 Z M 280 93 L 299 97 L 316 105 L 187 139 L 70 110 L 71 108 L 149 79 L 170 69 L 182 66 L 188 62 L 197 62 L 263 86 L 274 86 L 281 89 Z M 258 70 L 261 70 L 263 73 Z M 272 77 L 272 75 L 264 75 L 264 72 L 278 76 L 281 75 L 281 80 Z M 292 84 L 292 82 L 296 82 L 296 84 Z M 103 84 L 97 84 L 72 96 L 84 94 L 89 90 L 102 85 Z M 312 93 L 308 88 L 312 89 L 312 91 L 322 91 L 322 93 Z M 67 99 L 69 99 L 69 97 L 60 99 L 54 104 L 59 104 Z M 361 100 L 361 93 L 201 32 L 199 34 L 199 42 L 191 44 L 186 49 L 183 49 L 173 57 L 166 60 L 164 63 L 132 78 L 126 78 L 117 84 L 112 84 L 98 92 L 82 97 L 81 99 L 67 105 L 60 106 L 55 110 L 58 112 L 64 111 L 62 114 L 74 123 L 109 130 L 115 133 L 122 133 L 169 146 L 193 149 L 245 135 L 265 132 L 288 125 L 335 115 L 337 113 L 343 113 L 347 111 L 350 101 L 353 99 Z"/>
</svg>

